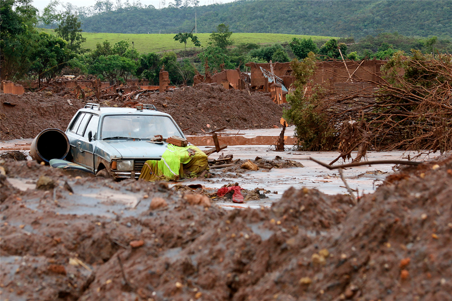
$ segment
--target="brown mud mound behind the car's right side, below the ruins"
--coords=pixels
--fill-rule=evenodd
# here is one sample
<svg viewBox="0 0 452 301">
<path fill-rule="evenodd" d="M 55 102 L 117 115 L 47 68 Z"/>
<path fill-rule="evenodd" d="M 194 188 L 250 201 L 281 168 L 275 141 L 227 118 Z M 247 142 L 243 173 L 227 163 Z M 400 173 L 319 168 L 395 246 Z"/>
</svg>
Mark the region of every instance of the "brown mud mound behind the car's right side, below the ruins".
<svg viewBox="0 0 452 301">
<path fill-rule="evenodd" d="M 207 83 L 141 100 L 170 114 L 182 129 L 189 129 L 187 132 L 209 132 L 221 127 L 268 129 L 280 126 L 283 112 L 283 107 L 273 103 L 269 94 L 227 90 Z"/>
</svg>

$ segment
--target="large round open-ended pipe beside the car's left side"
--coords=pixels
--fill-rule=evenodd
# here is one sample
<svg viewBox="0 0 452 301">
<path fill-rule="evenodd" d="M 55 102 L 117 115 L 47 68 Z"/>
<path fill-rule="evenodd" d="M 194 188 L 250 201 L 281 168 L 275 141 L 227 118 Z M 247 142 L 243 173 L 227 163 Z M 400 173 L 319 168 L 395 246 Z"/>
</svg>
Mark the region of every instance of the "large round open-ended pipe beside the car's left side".
<svg viewBox="0 0 452 301">
<path fill-rule="evenodd" d="M 30 156 L 38 162 L 49 162 L 51 159 L 64 159 L 69 150 L 69 140 L 63 131 L 46 129 L 33 140 Z"/>
</svg>

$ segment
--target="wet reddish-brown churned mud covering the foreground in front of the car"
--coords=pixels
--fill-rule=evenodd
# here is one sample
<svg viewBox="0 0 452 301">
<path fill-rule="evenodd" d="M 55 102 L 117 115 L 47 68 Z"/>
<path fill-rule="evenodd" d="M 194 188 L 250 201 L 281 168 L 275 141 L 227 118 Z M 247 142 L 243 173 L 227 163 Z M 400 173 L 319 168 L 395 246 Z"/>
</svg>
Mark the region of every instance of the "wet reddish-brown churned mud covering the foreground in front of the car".
<svg viewBox="0 0 452 301">
<path fill-rule="evenodd" d="M 291 188 L 231 211 L 165 183 L 2 167 L 2 300 L 452 300 L 452 157 L 356 206 Z"/>
</svg>

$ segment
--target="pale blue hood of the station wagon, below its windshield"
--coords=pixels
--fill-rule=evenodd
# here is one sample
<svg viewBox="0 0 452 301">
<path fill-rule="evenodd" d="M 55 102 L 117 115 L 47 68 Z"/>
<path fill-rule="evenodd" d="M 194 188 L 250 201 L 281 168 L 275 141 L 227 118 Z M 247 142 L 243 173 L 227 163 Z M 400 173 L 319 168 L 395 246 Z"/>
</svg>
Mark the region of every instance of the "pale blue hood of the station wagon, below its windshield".
<svg viewBox="0 0 452 301">
<path fill-rule="evenodd" d="M 122 158 L 161 158 L 168 144 L 151 143 L 149 140 L 103 140 L 105 152 L 109 152 L 111 157 Z M 109 150 L 108 150 L 109 149 Z M 114 150 L 115 151 L 114 151 Z M 115 155 L 114 155 L 115 153 Z"/>
</svg>

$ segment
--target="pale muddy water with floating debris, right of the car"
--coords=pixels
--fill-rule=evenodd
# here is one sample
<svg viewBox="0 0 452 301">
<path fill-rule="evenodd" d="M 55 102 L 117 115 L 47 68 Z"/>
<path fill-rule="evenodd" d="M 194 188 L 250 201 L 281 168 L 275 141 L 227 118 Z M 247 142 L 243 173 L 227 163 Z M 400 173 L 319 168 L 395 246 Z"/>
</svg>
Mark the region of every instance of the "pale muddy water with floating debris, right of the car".
<svg viewBox="0 0 452 301">
<path fill-rule="evenodd" d="M 201 147 L 201 150 L 204 148 Z M 246 204 L 220 203 L 227 209 L 237 207 L 251 207 L 259 208 L 261 206 L 269 206 L 272 202 L 278 200 L 281 194 L 289 187 L 295 188 L 316 188 L 326 194 L 347 194 L 347 189 L 341 179 L 337 170 L 329 170 L 317 163 L 309 160 L 309 157 L 320 160 L 325 163 L 331 162 L 338 156 L 337 152 L 299 152 L 293 151 L 286 147 L 284 152 L 275 152 L 269 148 L 268 145 L 261 146 L 230 146 L 221 151 L 224 154 L 233 154 L 234 158 L 240 159 L 255 159 L 257 156 L 265 159 L 274 159 L 280 156 L 283 159 L 295 160 L 304 165 L 304 167 L 294 168 L 273 168 L 259 169 L 258 171 L 241 170 L 240 174 L 224 173 L 219 178 L 209 179 L 205 181 L 192 181 L 190 183 L 203 184 L 209 188 L 219 188 L 227 183 L 238 182 L 242 188 L 254 189 L 256 187 L 270 190 L 271 193 L 266 193 L 268 200 L 250 201 Z M 411 157 L 416 153 L 412 153 Z M 213 153 L 209 158 L 217 158 L 219 154 Z M 408 155 L 406 152 L 369 152 L 367 160 L 400 160 Z M 352 153 L 355 157 L 356 153 Z M 426 159 L 426 158 L 421 158 Z M 338 162 L 336 164 L 341 164 Z M 349 162 L 346 162 L 349 163 Z M 353 168 L 346 168 L 344 176 L 349 186 L 355 190 L 355 194 L 363 195 L 365 193 L 372 193 L 378 185 L 383 183 L 384 179 L 393 170 L 394 164 L 379 164 L 379 165 L 363 165 Z"/>
</svg>

